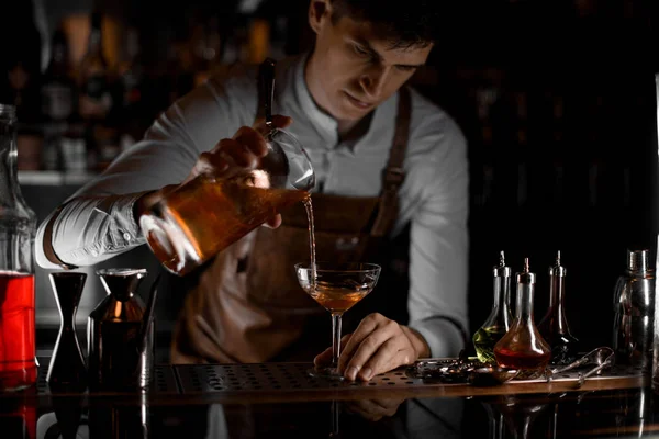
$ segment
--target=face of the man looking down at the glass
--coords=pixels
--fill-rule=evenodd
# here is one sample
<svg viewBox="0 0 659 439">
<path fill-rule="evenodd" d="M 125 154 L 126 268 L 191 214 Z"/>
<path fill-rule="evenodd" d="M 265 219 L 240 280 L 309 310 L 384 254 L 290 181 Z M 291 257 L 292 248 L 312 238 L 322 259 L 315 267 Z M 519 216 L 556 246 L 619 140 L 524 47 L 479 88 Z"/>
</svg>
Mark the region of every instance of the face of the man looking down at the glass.
<svg viewBox="0 0 659 439">
<path fill-rule="evenodd" d="M 316 103 L 339 121 L 358 121 L 391 97 L 417 67 L 432 45 L 391 48 L 369 22 L 342 16 L 332 23 L 331 3 L 312 1 L 316 45 L 306 81 Z"/>
</svg>

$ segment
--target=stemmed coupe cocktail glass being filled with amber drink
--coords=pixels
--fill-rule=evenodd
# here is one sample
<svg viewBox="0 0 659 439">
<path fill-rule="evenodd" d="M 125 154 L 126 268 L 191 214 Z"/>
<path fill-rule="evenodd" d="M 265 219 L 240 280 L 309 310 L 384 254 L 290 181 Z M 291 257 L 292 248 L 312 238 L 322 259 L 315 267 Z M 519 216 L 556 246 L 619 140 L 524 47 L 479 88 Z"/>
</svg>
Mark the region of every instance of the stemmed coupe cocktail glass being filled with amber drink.
<svg viewBox="0 0 659 439">
<path fill-rule="evenodd" d="M 380 275 L 375 263 L 297 263 L 295 273 L 302 289 L 332 314 L 332 364 L 310 370 L 313 376 L 343 380 L 338 372 L 340 356 L 340 318 L 370 293 Z"/>
</svg>

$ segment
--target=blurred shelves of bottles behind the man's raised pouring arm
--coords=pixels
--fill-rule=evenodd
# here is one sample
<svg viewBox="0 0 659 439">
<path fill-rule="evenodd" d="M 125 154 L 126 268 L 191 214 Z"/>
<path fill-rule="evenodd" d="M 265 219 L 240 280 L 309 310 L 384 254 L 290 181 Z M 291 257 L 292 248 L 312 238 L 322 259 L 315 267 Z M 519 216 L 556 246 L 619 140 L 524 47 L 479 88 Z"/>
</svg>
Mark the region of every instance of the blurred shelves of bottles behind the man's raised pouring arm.
<svg viewBox="0 0 659 439">
<path fill-rule="evenodd" d="M 0 83 L 2 101 L 18 106 L 21 180 L 82 183 L 211 75 L 284 56 L 286 18 L 233 16 L 231 29 L 216 14 L 181 19 L 185 31 L 167 41 L 97 10 L 63 18 L 44 36 L 44 68 L 19 55 L 8 66 L 8 90 Z M 157 54 L 147 53 L 154 46 Z"/>
</svg>

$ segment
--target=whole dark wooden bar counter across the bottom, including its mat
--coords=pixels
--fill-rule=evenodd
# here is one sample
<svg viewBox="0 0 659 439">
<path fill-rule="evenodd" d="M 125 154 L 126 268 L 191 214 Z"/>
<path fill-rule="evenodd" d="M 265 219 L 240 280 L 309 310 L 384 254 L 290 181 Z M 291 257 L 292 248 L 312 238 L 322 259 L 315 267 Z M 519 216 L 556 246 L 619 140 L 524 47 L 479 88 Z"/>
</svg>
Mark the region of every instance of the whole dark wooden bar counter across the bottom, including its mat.
<svg viewBox="0 0 659 439">
<path fill-rule="evenodd" d="M 310 363 L 156 367 L 144 393 L 55 393 L 40 358 L 35 387 L 0 394 L 0 438 L 570 438 L 659 429 L 649 378 L 613 368 L 477 386 L 410 368 L 368 383 L 311 378 Z M 77 435 L 77 436 L 76 436 Z"/>
</svg>

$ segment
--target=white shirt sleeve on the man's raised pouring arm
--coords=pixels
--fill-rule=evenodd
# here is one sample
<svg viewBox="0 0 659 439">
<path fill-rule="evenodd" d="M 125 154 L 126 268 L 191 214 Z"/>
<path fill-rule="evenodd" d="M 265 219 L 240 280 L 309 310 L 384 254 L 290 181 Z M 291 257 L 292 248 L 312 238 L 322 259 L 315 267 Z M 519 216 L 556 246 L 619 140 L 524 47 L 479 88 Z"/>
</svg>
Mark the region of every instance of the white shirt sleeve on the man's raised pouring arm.
<svg viewBox="0 0 659 439">
<path fill-rule="evenodd" d="M 231 137 L 256 112 L 254 81 L 214 78 L 164 112 L 144 139 L 122 153 L 105 171 L 80 188 L 48 215 L 36 234 L 36 263 L 51 262 L 44 251 L 52 225 L 55 255 L 70 266 L 91 266 L 145 243 L 133 215 L 143 194 L 183 181 L 199 155 Z"/>
</svg>

